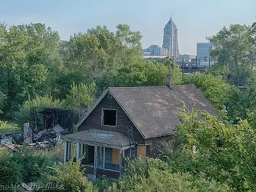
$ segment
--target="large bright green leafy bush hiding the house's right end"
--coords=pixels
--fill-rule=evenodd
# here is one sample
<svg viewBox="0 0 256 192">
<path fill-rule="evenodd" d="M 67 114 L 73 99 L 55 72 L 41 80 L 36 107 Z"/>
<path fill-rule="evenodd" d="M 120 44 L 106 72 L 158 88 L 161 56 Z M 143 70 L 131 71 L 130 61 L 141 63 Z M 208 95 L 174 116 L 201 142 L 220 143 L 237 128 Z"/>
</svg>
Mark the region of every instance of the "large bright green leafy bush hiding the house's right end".
<svg viewBox="0 0 256 192">
<path fill-rule="evenodd" d="M 255 115 L 249 116 L 234 125 L 223 121 L 227 116 L 188 111 L 183 103 L 176 129 L 182 144 L 166 158 L 172 172 L 213 179 L 236 191 L 255 191 Z"/>
</svg>

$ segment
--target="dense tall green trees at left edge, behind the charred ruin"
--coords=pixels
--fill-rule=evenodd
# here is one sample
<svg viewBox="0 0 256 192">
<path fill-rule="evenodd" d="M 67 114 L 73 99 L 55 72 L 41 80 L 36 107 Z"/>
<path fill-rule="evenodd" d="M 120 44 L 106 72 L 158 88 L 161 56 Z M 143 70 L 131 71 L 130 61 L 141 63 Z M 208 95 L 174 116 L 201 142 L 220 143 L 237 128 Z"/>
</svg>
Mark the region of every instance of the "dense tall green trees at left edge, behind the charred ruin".
<svg viewBox="0 0 256 192">
<path fill-rule="evenodd" d="M 1 24 L 0 31 L 0 91 L 8 97 L 5 110 L 14 111 L 37 93 L 53 90 L 54 78 L 61 68 L 60 37 L 44 24 L 22 24 L 9 30 Z"/>
</svg>

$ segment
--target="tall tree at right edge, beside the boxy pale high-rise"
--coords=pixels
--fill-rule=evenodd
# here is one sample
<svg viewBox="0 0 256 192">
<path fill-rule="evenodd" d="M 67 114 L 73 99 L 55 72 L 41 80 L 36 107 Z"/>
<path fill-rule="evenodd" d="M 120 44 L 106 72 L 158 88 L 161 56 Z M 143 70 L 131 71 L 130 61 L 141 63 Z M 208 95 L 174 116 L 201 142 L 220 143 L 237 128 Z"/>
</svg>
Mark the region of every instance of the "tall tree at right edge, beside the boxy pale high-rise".
<svg viewBox="0 0 256 192">
<path fill-rule="evenodd" d="M 245 24 L 224 27 L 212 36 L 211 42 L 214 44 L 211 56 L 217 61 L 215 68 L 225 67 L 230 83 L 246 85 L 256 57 L 251 27 Z"/>
</svg>

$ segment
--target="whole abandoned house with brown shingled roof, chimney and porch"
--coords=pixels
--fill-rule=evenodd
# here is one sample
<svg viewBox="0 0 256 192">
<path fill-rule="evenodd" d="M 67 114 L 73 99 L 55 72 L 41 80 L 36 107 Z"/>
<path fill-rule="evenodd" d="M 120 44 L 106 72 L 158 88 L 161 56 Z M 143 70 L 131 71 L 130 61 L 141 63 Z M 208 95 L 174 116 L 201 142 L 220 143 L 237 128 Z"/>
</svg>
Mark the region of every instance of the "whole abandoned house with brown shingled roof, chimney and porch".
<svg viewBox="0 0 256 192">
<path fill-rule="evenodd" d="M 180 125 L 176 113 L 185 102 L 188 108 L 217 115 L 209 100 L 194 86 L 107 88 L 86 115 L 74 127 L 76 132 L 63 136 L 64 163 L 70 160 L 71 145 L 76 145 L 76 159 L 84 155 L 88 177 L 120 177 L 124 157 L 155 156 L 159 144 L 173 136 Z"/>
</svg>

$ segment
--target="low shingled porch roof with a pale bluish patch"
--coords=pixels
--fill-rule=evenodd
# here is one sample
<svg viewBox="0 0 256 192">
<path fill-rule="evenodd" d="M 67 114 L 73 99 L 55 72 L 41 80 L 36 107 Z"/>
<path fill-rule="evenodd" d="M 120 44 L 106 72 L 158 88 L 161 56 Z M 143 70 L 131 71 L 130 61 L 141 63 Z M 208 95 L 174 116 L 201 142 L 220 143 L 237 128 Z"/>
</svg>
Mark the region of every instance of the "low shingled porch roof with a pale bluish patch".
<svg viewBox="0 0 256 192">
<path fill-rule="evenodd" d="M 110 148 L 128 148 L 129 138 L 120 132 L 88 129 L 61 136 L 63 140 L 84 143 L 87 145 L 100 145 Z"/>
</svg>

